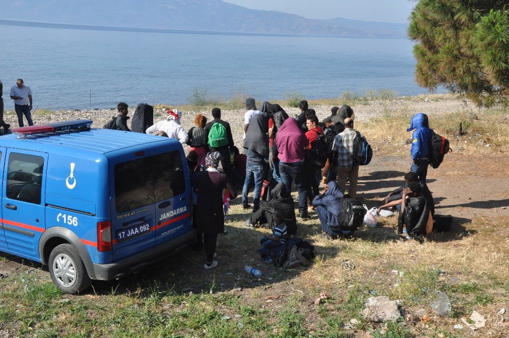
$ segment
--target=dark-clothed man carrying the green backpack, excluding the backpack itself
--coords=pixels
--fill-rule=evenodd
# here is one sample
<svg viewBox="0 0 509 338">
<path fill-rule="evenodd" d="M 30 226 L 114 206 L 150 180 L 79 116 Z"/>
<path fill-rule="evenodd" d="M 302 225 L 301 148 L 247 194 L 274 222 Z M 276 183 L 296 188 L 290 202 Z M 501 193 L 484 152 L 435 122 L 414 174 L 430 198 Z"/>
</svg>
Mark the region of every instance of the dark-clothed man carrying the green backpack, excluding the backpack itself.
<svg viewBox="0 0 509 338">
<path fill-rule="evenodd" d="M 219 108 L 212 109 L 212 117 L 214 119 L 205 125 L 203 133 L 203 143 L 209 145 L 210 128 L 212 128 L 214 123 L 220 123 L 223 125 L 224 129 L 226 129 L 228 144 L 219 148 L 214 147 L 209 148 L 211 152 L 217 151 L 219 154 L 221 154 L 221 165 L 224 174 L 226 174 L 234 184 L 242 184 L 244 183 L 244 180 L 242 179 L 242 177 L 240 177 L 240 175 L 237 172 L 232 170 L 232 164 L 230 162 L 230 152 L 233 152 L 233 146 L 235 146 L 233 142 L 232 129 L 230 128 L 230 124 L 226 121 L 221 120 L 221 109 Z"/>
</svg>

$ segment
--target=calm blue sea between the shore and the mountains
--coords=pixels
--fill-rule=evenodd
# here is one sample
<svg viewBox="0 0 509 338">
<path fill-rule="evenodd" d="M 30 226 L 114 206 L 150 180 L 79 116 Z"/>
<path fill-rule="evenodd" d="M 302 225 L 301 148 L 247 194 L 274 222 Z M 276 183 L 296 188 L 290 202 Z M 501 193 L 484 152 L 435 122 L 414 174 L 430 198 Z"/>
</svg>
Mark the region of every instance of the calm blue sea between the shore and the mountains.
<svg viewBox="0 0 509 338">
<path fill-rule="evenodd" d="M 40 108 L 113 107 L 119 101 L 182 104 L 193 88 L 229 98 L 338 97 L 390 88 L 425 94 L 414 81 L 412 42 L 74 30 L 0 23 L 0 79 L 23 78 Z M 6 95 L 7 92 L 7 95 Z"/>
</svg>

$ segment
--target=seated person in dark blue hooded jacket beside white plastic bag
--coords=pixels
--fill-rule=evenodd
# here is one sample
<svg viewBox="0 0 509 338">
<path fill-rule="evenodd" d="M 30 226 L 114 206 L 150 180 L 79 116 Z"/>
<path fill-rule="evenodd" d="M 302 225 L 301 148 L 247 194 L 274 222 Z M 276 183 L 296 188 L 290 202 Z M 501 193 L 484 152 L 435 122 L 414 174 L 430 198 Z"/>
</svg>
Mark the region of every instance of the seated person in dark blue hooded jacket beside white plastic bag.
<svg viewBox="0 0 509 338">
<path fill-rule="evenodd" d="M 342 198 L 343 192 L 340 187 L 337 186 L 335 181 L 330 181 L 311 203 L 317 208 L 317 215 L 322 224 L 324 236 L 329 239 L 350 236 L 354 232 L 353 230 L 341 230 L 341 225 L 337 220 L 341 212 Z"/>
</svg>

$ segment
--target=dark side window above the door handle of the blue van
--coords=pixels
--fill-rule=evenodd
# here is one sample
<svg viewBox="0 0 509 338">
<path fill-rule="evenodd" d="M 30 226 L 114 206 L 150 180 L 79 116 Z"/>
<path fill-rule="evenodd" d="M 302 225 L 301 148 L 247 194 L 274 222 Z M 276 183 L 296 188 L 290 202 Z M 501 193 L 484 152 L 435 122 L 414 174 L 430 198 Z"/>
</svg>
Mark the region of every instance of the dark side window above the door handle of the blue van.
<svg viewBox="0 0 509 338">
<path fill-rule="evenodd" d="M 6 196 L 9 199 L 41 204 L 44 158 L 11 153 L 7 169 Z"/>
</svg>

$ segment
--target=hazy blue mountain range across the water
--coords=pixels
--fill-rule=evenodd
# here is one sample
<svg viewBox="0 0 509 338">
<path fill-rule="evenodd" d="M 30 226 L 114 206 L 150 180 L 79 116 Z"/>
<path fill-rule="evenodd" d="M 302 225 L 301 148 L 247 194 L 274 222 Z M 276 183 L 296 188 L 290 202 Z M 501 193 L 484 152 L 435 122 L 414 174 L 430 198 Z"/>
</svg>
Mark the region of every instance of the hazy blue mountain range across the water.
<svg viewBox="0 0 509 338">
<path fill-rule="evenodd" d="M 0 19 L 211 32 L 407 36 L 404 23 L 307 19 L 221 0 L 0 0 Z"/>
</svg>

